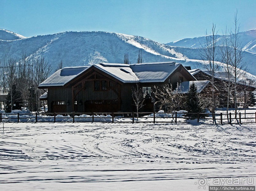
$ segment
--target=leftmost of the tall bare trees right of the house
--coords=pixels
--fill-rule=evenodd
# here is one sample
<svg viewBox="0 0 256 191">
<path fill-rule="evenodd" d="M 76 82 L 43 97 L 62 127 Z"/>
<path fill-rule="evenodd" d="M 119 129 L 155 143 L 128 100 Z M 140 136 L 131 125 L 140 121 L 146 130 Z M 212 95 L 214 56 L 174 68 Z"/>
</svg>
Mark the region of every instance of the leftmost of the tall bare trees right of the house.
<svg viewBox="0 0 256 191">
<path fill-rule="evenodd" d="M 217 41 L 217 32 L 215 31 L 215 24 L 213 24 L 213 27 L 211 29 L 210 34 L 206 31 L 206 37 L 205 37 L 205 46 L 202 46 L 203 54 L 201 55 L 202 60 L 204 61 L 204 67 L 209 71 L 210 73 L 210 81 L 212 82 L 212 91 L 211 91 L 211 104 L 210 104 L 210 111 L 213 114 L 213 122 L 216 123 L 215 119 L 215 111 L 216 107 L 218 105 L 218 98 L 216 94 L 216 89 L 214 88 L 215 84 L 215 74 L 219 69 L 219 65 L 216 63 L 217 61 L 217 55 L 218 55 L 218 41 Z"/>
</svg>

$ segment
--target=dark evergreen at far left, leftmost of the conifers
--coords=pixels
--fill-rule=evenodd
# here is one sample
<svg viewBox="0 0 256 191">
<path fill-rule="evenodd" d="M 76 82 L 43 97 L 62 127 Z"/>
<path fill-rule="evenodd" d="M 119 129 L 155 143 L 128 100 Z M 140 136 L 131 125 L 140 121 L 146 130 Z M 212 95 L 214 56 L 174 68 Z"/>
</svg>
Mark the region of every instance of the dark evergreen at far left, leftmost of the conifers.
<svg viewBox="0 0 256 191">
<path fill-rule="evenodd" d="M 22 107 L 22 93 L 17 89 L 16 83 L 13 83 L 12 88 L 9 90 L 6 97 L 6 110 L 10 113 L 11 110 L 21 110 Z"/>
</svg>

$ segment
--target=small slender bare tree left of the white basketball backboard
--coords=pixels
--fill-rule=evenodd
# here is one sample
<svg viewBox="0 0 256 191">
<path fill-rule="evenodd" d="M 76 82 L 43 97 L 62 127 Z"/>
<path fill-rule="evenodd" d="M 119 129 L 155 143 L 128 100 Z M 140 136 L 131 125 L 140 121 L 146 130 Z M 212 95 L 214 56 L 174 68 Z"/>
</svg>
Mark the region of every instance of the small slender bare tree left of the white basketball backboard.
<svg viewBox="0 0 256 191">
<path fill-rule="evenodd" d="M 135 87 L 132 88 L 132 98 L 133 102 L 135 104 L 136 110 L 137 110 L 137 120 L 138 120 L 138 112 L 139 109 L 141 109 L 144 106 L 144 95 L 143 95 L 143 90 L 140 87 L 139 81 L 136 81 Z"/>
</svg>

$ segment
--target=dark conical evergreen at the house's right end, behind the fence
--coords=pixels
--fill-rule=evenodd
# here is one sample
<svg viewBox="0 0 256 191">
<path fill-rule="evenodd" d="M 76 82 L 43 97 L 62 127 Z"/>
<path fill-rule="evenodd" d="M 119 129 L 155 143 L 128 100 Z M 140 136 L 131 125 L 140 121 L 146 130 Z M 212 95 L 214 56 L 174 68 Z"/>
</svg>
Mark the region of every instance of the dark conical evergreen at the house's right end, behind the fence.
<svg viewBox="0 0 256 191">
<path fill-rule="evenodd" d="M 194 82 L 189 86 L 186 98 L 186 109 L 188 113 L 203 113 L 204 108 L 201 105 L 200 97 L 197 92 L 197 87 Z M 197 114 L 187 114 L 190 118 L 197 117 Z M 202 115 L 200 116 L 202 117 Z"/>
</svg>

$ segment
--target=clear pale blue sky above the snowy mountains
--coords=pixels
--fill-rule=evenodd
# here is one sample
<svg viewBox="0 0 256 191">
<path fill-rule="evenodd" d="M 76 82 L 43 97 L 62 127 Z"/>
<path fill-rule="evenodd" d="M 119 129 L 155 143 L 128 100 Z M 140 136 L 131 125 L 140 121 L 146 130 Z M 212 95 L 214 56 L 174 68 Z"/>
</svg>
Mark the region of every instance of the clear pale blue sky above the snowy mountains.
<svg viewBox="0 0 256 191">
<path fill-rule="evenodd" d="M 160 43 L 203 36 L 212 23 L 256 28 L 256 0 L 0 0 L 0 28 L 30 37 L 64 31 L 107 31 Z"/>
</svg>

